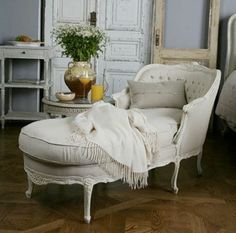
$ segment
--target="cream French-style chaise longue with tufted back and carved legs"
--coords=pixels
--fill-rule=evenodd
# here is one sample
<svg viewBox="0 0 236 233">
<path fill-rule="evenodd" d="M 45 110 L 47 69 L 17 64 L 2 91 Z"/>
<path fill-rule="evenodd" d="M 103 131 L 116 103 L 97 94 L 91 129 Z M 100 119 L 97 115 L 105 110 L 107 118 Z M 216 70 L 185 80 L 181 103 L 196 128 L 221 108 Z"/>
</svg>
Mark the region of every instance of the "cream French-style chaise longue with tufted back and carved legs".
<svg viewBox="0 0 236 233">
<path fill-rule="evenodd" d="M 182 159 L 197 156 L 197 169 L 202 172 L 202 148 L 220 75 L 219 70 L 197 64 L 151 64 L 141 68 L 128 88 L 113 95 L 118 108 L 139 108 L 155 129 L 157 152 L 148 170 L 174 163 L 171 187 L 175 193 Z M 100 164 L 79 154 L 79 144 L 66 141 L 72 133 L 71 121 L 71 117 L 47 119 L 21 130 L 19 147 L 29 184 L 26 196 L 31 197 L 33 184 L 81 184 L 84 219 L 89 223 L 93 186 L 120 177 L 112 177 Z"/>
</svg>

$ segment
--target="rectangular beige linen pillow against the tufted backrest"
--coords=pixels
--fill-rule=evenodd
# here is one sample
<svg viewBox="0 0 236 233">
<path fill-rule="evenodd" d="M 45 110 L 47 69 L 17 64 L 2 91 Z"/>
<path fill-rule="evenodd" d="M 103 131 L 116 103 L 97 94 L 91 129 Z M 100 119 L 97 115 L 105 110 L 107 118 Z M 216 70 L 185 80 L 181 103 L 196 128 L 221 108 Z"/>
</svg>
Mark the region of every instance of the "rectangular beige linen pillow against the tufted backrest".
<svg viewBox="0 0 236 233">
<path fill-rule="evenodd" d="M 184 82 L 150 83 L 129 80 L 130 108 L 182 108 L 186 104 Z"/>
</svg>

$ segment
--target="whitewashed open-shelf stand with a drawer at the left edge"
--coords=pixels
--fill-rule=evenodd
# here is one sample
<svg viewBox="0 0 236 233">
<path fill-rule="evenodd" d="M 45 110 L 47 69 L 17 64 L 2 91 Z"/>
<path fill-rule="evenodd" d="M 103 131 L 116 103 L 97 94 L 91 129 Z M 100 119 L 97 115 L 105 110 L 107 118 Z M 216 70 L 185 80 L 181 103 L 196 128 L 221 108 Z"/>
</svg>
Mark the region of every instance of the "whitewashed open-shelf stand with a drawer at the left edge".
<svg viewBox="0 0 236 233">
<path fill-rule="evenodd" d="M 40 111 L 14 111 L 12 108 L 12 94 L 16 89 L 21 89 L 22 92 L 25 89 L 34 89 L 35 91 L 43 90 L 43 96 L 49 96 L 52 85 L 49 72 L 52 55 L 52 50 L 49 47 L 0 46 L 2 128 L 4 128 L 5 120 L 39 120 L 45 118 L 46 114 Z M 27 79 L 27 77 L 25 79 L 13 79 L 12 61 L 14 59 L 42 60 L 44 70 L 42 77 L 39 75 L 36 80 Z M 8 70 L 6 70 L 6 61 L 8 62 Z M 8 96 L 6 96 L 7 94 Z M 37 104 L 40 105 L 40 102 L 38 101 Z M 38 107 L 38 109 L 40 108 Z"/>
</svg>

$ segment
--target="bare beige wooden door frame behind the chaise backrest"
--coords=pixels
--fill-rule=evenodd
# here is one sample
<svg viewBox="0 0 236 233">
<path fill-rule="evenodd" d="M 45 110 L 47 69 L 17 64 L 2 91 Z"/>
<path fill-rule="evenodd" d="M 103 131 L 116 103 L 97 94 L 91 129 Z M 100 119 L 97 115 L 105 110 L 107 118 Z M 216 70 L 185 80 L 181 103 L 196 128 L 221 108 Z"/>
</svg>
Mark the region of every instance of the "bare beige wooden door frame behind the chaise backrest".
<svg viewBox="0 0 236 233">
<path fill-rule="evenodd" d="M 185 0 L 188 2 L 189 0 Z M 192 0 L 196 3 L 195 0 Z M 219 25 L 220 0 L 208 0 L 209 19 L 206 48 L 166 48 L 165 47 L 165 12 L 167 0 L 155 0 L 155 22 L 153 35 L 153 63 L 183 63 L 199 62 L 202 65 L 215 68 L 217 59 L 217 41 Z M 171 3 L 171 1 L 169 1 Z M 199 3 L 199 2 L 198 2 Z M 187 9 L 186 9 L 187 10 Z M 188 20 L 188 18 L 186 19 Z M 200 22 L 201 23 L 201 22 Z M 205 22 L 207 23 L 207 22 Z M 203 32 L 204 33 L 204 32 Z M 186 33 L 188 37 L 188 33 Z M 172 38 L 173 40 L 174 38 Z M 205 47 L 205 46 L 203 46 Z"/>
</svg>

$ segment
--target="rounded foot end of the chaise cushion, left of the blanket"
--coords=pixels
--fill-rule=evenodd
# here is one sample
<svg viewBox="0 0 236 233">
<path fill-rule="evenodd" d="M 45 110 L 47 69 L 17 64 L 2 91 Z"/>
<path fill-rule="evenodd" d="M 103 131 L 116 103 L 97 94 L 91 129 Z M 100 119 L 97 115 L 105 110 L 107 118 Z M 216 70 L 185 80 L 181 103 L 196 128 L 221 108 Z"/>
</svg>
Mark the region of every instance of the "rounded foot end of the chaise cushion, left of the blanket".
<svg viewBox="0 0 236 233">
<path fill-rule="evenodd" d="M 46 162 L 58 164 L 91 164 L 71 145 L 72 117 L 33 122 L 22 128 L 19 148 L 26 154 Z"/>
</svg>

